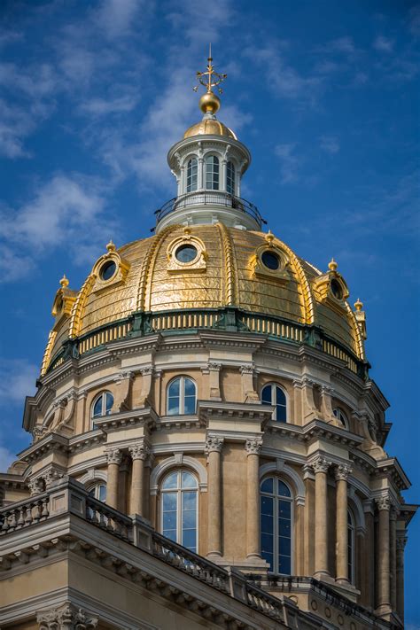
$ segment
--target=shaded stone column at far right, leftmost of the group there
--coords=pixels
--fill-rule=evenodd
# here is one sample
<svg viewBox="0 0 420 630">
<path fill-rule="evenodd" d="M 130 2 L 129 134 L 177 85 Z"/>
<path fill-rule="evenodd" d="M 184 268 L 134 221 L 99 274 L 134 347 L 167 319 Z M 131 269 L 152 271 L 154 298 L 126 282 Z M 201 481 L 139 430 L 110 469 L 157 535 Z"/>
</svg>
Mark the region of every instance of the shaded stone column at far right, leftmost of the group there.
<svg viewBox="0 0 420 630">
<path fill-rule="evenodd" d="M 377 614 L 385 615 L 391 612 L 391 597 L 389 587 L 389 510 L 388 496 L 377 498 L 378 509 L 378 541 L 377 541 Z"/>
</svg>

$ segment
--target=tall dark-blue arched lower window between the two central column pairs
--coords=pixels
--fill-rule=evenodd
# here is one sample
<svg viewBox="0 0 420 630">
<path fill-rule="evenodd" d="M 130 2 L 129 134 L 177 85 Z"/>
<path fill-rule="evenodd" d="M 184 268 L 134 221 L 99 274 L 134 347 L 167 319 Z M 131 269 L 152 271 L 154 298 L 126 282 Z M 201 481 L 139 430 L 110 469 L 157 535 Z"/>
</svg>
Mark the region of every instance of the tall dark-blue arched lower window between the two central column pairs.
<svg viewBox="0 0 420 630">
<path fill-rule="evenodd" d="M 292 492 L 284 481 L 261 482 L 261 556 L 274 573 L 292 573 Z"/>
</svg>

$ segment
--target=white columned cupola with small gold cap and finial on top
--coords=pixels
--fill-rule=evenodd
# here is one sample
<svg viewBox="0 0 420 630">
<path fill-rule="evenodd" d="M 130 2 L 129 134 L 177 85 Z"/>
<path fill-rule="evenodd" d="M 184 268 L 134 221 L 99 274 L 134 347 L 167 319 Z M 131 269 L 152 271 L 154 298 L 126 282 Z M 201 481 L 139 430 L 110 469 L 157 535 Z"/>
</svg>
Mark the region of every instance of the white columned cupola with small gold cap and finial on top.
<svg viewBox="0 0 420 630">
<path fill-rule="evenodd" d="M 197 77 L 206 88 L 198 104 L 203 118 L 188 128 L 168 152 L 177 194 L 157 212 L 156 231 L 175 223 L 188 226 L 218 222 L 260 230 L 258 209 L 241 198 L 241 180 L 251 163 L 251 153 L 234 131 L 216 118 L 221 101 L 214 88 L 222 93 L 219 86 L 227 74 L 214 71 L 211 49 L 206 72 L 198 72 Z M 194 89 L 197 91 L 198 86 Z"/>
</svg>

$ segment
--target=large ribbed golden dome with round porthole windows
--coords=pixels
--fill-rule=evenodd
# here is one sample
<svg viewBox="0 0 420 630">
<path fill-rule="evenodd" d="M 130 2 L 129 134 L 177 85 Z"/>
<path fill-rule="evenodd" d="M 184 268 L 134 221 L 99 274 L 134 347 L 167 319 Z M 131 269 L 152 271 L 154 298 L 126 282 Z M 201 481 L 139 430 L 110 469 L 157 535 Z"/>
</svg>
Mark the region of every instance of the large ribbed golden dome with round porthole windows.
<svg viewBox="0 0 420 630">
<path fill-rule="evenodd" d="M 196 260 L 176 261 L 181 245 L 195 247 Z M 279 261 L 278 269 L 265 266 L 264 253 Z M 100 269 L 109 264 L 110 256 L 124 273 L 104 281 Z M 66 339 L 78 338 L 82 344 L 94 335 L 97 342 L 86 346 L 91 349 L 127 334 L 135 313 L 150 314 L 151 330 L 165 331 L 177 327 L 168 311 L 193 313 L 182 315 L 182 327 L 199 328 L 201 320 L 194 314 L 225 307 L 245 313 L 243 322 L 249 331 L 277 336 L 280 330 L 289 331 L 294 341 L 303 341 L 310 332 L 308 327 L 315 325 L 332 340 L 323 342 L 325 352 L 342 358 L 339 348 L 345 347 L 355 360 L 364 360 L 361 331 L 352 308 L 344 300 L 338 304 L 318 291 L 325 277 L 271 234 L 227 228 L 222 223 L 191 225 L 187 230 L 167 226 L 159 234 L 105 253 L 97 261 L 75 297 L 71 315 L 51 331 L 43 373 L 55 365 Z M 219 316 L 217 310 L 210 316 Z M 107 337 L 103 331 L 113 323 L 121 331 L 119 328 L 120 332 Z M 98 330 L 102 332 L 93 332 Z M 281 332 L 280 336 L 287 334 Z M 338 342 L 334 351 L 333 340 Z"/>
</svg>

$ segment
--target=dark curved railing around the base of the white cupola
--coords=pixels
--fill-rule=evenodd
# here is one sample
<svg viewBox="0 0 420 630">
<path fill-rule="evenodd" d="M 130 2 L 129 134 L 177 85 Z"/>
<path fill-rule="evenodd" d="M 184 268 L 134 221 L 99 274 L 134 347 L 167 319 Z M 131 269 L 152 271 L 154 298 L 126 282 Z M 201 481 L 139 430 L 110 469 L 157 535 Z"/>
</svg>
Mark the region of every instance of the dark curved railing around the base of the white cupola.
<svg viewBox="0 0 420 630">
<path fill-rule="evenodd" d="M 226 191 L 194 191 L 170 199 L 166 204 L 155 211 L 156 224 L 164 219 L 167 214 L 171 214 L 175 212 L 175 210 L 182 210 L 183 208 L 188 208 L 190 206 L 221 206 L 232 208 L 234 210 L 240 210 L 251 216 L 253 220 L 258 223 L 260 229 L 263 224 L 267 224 L 267 222 L 261 217 L 257 206 L 254 206 L 251 201 L 235 197 Z M 154 229 L 155 228 L 152 228 L 151 231 L 154 231 Z"/>
</svg>

